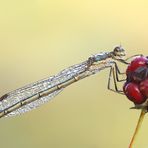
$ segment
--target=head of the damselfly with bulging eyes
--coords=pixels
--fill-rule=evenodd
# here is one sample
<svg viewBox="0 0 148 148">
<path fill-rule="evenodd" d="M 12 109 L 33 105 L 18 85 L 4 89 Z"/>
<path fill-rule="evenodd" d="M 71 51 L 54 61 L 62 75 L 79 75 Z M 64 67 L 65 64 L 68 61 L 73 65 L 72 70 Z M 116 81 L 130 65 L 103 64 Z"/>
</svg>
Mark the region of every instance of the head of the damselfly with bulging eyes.
<svg viewBox="0 0 148 148">
<path fill-rule="evenodd" d="M 114 48 L 113 55 L 114 55 L 114 57 L 120 59 L 120 58 L 124 57 L 126 54 L 125 54 L 124 48 L 120 45 L 120 46 L 116 46 Z"/>
</svg>

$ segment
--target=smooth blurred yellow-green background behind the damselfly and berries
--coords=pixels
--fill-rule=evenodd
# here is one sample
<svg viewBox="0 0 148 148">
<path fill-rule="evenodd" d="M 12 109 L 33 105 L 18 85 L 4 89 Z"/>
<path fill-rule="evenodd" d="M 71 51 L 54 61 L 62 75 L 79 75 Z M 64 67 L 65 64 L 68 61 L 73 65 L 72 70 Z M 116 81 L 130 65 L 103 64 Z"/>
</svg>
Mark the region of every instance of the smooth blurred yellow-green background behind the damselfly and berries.
<svg viewBox="0 0 148 148">
<path fill-rule="evenodd" d="M 148 54 L 146 0 L 0 2 L 0 95 L 122 44 Z M 126 67 L 121 65 L 122 70 Z M 140 111 L 107 90 L 108 70 L 49 103 L 0 120 L 3 148 L 127 148 Z M 146 116 L 135 148 L 148 147 Z"/>
</svg>

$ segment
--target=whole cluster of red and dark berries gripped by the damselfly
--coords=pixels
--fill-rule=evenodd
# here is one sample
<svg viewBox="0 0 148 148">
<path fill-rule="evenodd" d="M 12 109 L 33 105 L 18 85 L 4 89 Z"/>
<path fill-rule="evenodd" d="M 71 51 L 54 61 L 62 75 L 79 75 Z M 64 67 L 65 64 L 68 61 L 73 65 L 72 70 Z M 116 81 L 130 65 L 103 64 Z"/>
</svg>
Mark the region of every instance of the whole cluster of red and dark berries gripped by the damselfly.
<svg viewBox="0 0 148 148">
<path fill-rule="evenodd" d="M 135 104 L 142 104 L 148 98 L 148 57 L 134 58 L 127 67 L 126 76 L 125 95 Z"/>
</svg>

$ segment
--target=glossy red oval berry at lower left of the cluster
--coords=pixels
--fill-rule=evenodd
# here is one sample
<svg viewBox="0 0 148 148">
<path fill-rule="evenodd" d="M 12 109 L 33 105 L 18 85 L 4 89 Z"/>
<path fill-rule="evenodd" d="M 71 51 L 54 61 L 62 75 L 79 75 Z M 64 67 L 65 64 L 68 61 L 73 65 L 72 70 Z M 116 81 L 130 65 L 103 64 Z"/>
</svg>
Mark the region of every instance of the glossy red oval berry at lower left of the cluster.
<svg viewBox="0 0 148 148">
<path fill-rule="evenodd" d="M 136 83 L 125 83 L 125 86 L 123 86 L 123 90 L 127 98 L 135 104 L 141 104 L 146 100 L 145 97 L 141 94 Z"/>
</svg>

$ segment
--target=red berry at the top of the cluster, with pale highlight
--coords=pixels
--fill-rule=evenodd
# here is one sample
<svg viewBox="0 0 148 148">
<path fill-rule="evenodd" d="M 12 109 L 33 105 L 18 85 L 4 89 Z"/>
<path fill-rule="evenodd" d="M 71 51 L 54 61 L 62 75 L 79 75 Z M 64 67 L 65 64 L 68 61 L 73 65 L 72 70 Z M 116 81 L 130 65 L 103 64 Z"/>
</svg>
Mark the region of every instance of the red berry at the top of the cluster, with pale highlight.
<svg viewBox="0 0 148 148">
<path fill-rule="evenodd" d="M 144 56 L 138 56 L 134 58 L 131 63 L 128 65 L 126 74 L 134 72 L 138 67 L 146 66 L 148 64 L 148 58 Z"/>
</svg>

